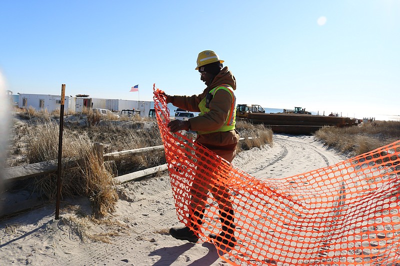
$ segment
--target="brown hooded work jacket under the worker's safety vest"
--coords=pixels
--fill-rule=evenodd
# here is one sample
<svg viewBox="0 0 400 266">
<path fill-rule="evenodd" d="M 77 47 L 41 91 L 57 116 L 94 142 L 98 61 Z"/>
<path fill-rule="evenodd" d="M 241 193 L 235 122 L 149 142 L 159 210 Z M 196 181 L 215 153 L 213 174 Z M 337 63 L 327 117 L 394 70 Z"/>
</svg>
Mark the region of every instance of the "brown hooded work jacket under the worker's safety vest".
<svg viewBox="0 0 400 266">
<path fill-rule="evenodd" d="M 221 69 L 212 80 L 212 83 L 201 94 L 169 96 L 168 102 L 187 111 L 200 112 L 198 107 L 200 101 L 205 98 L 211 89 L 222 84 L 229 85 L 233 90 L 236 89 L 236 79 L 226 66 Z M 226 121 L 232 100 L 229 92 L 222 89 L 217 90 L 209 103 L 209 112 L 188 120 L 190 122 L 190 129 L 193 131 L 214 131 L 219 129 Z M 196 141 L 231 162 L 236 154 L 235 150 L 239 136 L 235 130 L 230 130 L 197 135 Z"/>
</svg>

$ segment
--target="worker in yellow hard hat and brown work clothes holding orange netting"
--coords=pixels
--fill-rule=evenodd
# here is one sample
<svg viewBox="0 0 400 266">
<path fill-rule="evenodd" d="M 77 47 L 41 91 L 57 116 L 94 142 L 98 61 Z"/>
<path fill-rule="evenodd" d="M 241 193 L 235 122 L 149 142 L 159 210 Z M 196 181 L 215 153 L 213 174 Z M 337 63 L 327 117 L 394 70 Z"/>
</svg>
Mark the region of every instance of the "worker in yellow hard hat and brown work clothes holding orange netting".
<svg viewBox="0 0 400 266">
<path fill-rule="evenodd" d="M 199 112 L 199 115 L 189 118 L 187 121 L 172 120 L 168 123 L 171 132 L 179 130 L 193 130 L 197 132 L 197 143 L 207 147 L 223 159 L 231 162 L 236 155 L 236 145 L 239 140 L 235 130 L 235 102 L 233 90 L 236 89 L 236 80 L 222 65 L 218 55 L 210 50 L 202 51 L 197 56 L 196 70 L 200 73 L 200 79 L 207 86 L 202 93 L 192 96 L 166 95 L 166 102 L 191 112 Z M 221 182 L 221 180 L 218 180 Z M 200 191 L 199 186 L 202 187 Z M 216 185 L 214 180 L 205 178 L 196 173 L 193 185 L 190 189 L 190 225 L 188 227 L 171 228 L 169 233 L 179 240 L 187 240 L 192 243 L 198 241 L 198 225 L 201 225 L 206 195 L 210 192 L 218 202 L 221 232 L 218 235 L 211 234 L 210 238 L 216 239 L 226 247 L 234 247 L 236 239 L 233 236 L 234 212 L 232 209 L 229 189 Z M 216 242 L 216 243 L 218 243 Z"/>
</svg>

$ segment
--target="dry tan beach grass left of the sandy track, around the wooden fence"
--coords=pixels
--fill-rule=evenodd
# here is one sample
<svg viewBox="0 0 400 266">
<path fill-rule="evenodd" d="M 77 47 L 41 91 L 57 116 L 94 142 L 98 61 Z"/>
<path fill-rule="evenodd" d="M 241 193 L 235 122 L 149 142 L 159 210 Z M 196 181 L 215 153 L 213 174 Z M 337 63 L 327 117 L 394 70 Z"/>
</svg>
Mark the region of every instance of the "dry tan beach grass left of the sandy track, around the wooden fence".
<svg viewBox="0 0 400 266">
<path fill-rule="evenodd" d="M 58 156 L 58 123 L 57 113 L 37 112 L 33 108 L 16 112 L 8 167 L 55 160 Z M 245 138 L 238 145 L 238 152 L 272 144 L 269 129 L 245 122 L 238 122 L 237 129 Z M 249 136 L 257 138 L 247 139 Z M 90 109 L 64 118 L 62 156 L 75 158 L 77 163 L 62 171 L 62 197 L 87 197 L 93 217 L 102 218 L 114 211 L 117 201 L 112 177 L 164 164 L 165 159 L 161 152 L 155 152 L 100 165 L 93 152 L 95 142 L 103 143 L 107 153 L 161 145 L 161 138 L 153 118 L 122 116 L 122 119 L 116 119 Z M 56 180 L 56 173 L 51 173 L 18 182 L 16 186 L 29 188 L 32 193 L 51 201 L 55 198 Z"/>
</svg>

